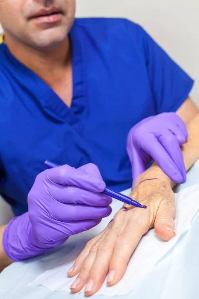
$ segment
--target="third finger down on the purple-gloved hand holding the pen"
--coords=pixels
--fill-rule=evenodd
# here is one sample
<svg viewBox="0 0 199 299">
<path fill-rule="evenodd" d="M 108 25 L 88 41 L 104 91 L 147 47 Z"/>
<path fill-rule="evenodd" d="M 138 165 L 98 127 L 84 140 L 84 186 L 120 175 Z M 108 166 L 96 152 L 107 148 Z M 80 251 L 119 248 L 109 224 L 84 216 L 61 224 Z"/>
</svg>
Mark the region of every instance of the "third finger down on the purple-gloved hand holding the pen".
<svg viewBox="0 0 199 299">
<path fill-rule="evenodd" d="M 107 217 L 111 214 L 111 207 L 92 207 L 82 204 L 63 204 L 49 208 L 49 213 L 59 221 L 93 220 Z"/>
</svg>

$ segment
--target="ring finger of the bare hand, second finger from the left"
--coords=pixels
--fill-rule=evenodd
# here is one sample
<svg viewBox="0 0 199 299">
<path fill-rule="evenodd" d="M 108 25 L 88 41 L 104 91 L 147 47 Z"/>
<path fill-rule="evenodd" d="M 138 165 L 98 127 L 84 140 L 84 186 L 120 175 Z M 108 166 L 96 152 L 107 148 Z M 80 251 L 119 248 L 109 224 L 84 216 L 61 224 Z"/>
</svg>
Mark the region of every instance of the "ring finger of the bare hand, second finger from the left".
<svg viewBox="0 0 199 299">
<path fill-rule="evenodd" d="M 82 269 L 81 269 L 78 277 L 76 278 L 75 282 L 70 287 L 70 289 L 73 293 L 79 292 L 87 284 L 88 279 L 89 279 L 90 269 L 92 268 L 92 266 L 95 262 L 95 259 L 96 259 L 96 253 L 97 253 L 98 247 L 99 247 L 100 243 L 103 241 L 103 239 L 105 238 L 105 236 L 107 235 L 108 231 L 109 230 L 105 230 L 104 233 L 100 236 L 100 238 L 91 246 L 89 254 L 88 254 L 86 260 L 84 261 L 84 264 L 82 266 Z"/>
</svg>

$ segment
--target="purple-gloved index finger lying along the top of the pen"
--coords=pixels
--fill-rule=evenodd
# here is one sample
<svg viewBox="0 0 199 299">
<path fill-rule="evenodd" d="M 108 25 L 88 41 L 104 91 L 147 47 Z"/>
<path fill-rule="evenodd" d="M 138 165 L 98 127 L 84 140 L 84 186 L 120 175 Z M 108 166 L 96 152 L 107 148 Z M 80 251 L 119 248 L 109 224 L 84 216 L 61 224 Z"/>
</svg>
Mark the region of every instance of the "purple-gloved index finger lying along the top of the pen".
<svg viewBox="0 0 199 299">
<path fill-rule="evenodd" d="M 56 184 L 65 186 L 73 185 L 93 192 L 102 192 L 105 190 L 105 183 L 100 177 L 69 165 L 47 169 L 44 172 L 47 178 Z"/>
</svg>

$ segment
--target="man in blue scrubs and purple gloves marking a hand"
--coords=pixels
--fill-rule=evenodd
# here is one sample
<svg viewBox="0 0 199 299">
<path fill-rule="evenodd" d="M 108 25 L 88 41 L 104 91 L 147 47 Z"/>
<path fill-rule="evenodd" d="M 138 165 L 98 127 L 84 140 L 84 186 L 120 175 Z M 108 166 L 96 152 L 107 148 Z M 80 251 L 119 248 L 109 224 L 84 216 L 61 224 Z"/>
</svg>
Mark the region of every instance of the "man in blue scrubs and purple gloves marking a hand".
<svg viewBox="0 0 199 299">
<path fill-rule="evenodd" d="M 198 112 L 193 80 L 142 27 L 74 14 L 75 0 L 0 0 L 0 194 L 18 216 L 0 228 L 1 269 L 97 225 L 111 212 L 105 184 L 126 189 L 132 170 L 180 150 Z M 163 112 L 132 136 L 132 169 L 128 132 Z M 162 152 L 154 126 L 170 140 Z M 161 167 L 185 181 L 182 153 L 168 155 Z M 45 159 L 63 166 L 43 171 Z"/>
</svg>

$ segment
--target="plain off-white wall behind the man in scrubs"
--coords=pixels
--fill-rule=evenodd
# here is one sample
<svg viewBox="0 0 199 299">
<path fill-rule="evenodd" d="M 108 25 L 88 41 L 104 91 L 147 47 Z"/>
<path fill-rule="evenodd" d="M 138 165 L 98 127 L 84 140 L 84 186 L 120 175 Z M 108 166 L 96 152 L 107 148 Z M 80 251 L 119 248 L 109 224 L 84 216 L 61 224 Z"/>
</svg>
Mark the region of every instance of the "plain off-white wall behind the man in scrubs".
<svg viewBox="0 0 199 299">
<path fill-rule="evenodd" d="M 199 106 L 199 0 L 77 0 L 76 15 L 126 17 L 142 25 L 196 80 L 191 96 Z M 0 223 L 6 217 L 10 210 L 0 205 Z"/>
</svg>

